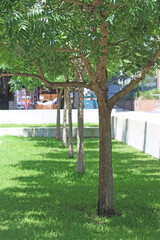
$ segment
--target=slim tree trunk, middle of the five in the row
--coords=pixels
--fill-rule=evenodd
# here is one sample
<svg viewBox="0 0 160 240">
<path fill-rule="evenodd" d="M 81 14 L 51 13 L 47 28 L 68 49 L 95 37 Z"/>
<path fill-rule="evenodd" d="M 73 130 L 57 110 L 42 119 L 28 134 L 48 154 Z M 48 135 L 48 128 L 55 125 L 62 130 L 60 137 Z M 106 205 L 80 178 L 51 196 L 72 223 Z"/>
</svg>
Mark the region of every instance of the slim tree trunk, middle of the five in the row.
<svg viewBox="0 0 160 240">
<path fill-rule="evenodd" d="M 70 99 L 70 89 L 67 89 L 67 103 L 68 103 L 68 140 L 69 140 L 69 148 L 68 148 L 68 158 L 73 158 L 73 134 L 72 134 L 72 106 Z"/>
</svg>

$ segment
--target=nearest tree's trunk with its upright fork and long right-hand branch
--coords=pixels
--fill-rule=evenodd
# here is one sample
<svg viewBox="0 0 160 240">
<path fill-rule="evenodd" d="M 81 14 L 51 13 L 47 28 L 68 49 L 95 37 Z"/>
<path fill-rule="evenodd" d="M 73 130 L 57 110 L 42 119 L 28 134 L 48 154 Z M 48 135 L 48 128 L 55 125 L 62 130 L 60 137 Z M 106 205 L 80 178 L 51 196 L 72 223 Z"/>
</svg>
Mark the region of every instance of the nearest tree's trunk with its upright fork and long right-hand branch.
<svg viewBox="0 0 160 240">
<path fill-rule="evenodd" d="M 104 31 L 105 33 L 105 31 Z M 106 44 L 107 46 L 107 44 Z M 113 174 L 112 174 L 112 143 L 111 143 L 111 110 L 116 102 L 131 91 L 154 65 L 160 56 L 160 49 L 148 60 L 142 71 L 137 74 L 132 82 L 111 99 L 107 99 L 107 76 L 105 76 L 106 60 L 101 57 L 95 74 L 87 57 L 83 57 L 85 67 L 90 75 L 92 87 L 97 95 L 99 106 L 99 193 L 98 215 L 111 217 L 115 215 L 113 201 Z"/>
</svg>

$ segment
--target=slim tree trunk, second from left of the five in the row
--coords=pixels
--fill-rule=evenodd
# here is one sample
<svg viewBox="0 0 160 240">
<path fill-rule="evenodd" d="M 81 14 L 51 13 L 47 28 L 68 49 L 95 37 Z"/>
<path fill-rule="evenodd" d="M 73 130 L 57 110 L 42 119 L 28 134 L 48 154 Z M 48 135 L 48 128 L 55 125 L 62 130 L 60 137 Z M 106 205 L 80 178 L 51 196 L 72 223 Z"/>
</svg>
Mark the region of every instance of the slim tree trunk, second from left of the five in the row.
<svg viewBox="0 0 160 240">
<path fill-rule="evenodd" d="M 62 147 L 67 145 L 67 89 L 64 89 L 64 108 L 63 108 L 63 134 L 62 134 Z"/>
</svg>

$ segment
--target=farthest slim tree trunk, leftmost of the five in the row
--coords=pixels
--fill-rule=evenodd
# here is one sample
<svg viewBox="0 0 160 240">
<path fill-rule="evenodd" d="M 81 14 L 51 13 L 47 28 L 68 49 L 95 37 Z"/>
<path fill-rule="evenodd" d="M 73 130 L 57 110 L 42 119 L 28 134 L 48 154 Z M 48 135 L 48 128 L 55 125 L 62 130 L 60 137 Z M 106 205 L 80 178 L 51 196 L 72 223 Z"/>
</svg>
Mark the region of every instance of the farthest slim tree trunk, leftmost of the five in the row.
<svg viewBox="0 0 160 240">
<path fill-rule="evenodd" d="M 61 108 L 61 96 L 62 89 L 56 89 L 57 92 L 57 126 L 56 126 L 56 139 L 60 140 L 61 138 L 61 129 L 60 129 L 60 108 Z"/>
</svg>

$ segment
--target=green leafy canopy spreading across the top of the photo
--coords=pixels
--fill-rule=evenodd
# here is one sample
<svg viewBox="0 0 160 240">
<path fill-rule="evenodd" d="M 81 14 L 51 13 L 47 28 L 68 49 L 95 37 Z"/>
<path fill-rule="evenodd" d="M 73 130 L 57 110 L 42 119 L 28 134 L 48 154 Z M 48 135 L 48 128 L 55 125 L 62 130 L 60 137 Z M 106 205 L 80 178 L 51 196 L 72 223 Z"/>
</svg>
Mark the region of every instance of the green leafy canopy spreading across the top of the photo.
<svg viewBox="0 0 160 240">
<path fill-rule="evenodd" d="M 81 53 L 90 58 L 96 71 L 95 64 L 104 54 L 100 47 L 99 12 L 108 12 L 103 20 L 108 23 L 108 72 L 110 76 L 119 70 L 137 73 L 159 46 L 159 2 L 102 2 L 92 13 L 70 1 L 2 1 L 1 60 L 12 71 L 28 72 L 36 62 L 53 79 L 54 75 L 66 73 L 67 58 Z M 56 52 L 59 48 L 78 51 Z M 26 63 L 27 68 L 20 66 L 19 61 Z"/>
</svg>

